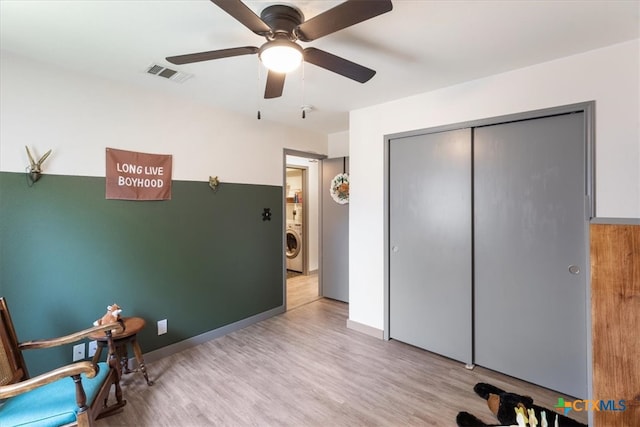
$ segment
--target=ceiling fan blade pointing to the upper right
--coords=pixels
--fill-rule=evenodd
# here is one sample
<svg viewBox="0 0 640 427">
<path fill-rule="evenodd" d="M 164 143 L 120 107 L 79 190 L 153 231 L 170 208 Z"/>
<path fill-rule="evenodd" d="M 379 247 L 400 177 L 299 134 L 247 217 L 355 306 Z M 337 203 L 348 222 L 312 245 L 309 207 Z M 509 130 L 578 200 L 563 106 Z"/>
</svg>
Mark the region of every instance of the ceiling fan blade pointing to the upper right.
<svg viewBox="0 0 640 427">
<path fill-rule="evenodd" d="M 300 40 L 309 42 L 382 15 L 391 9 L 391 0 L 348 0 L 303 22 L 296 29 L 296 34 Z"/>
</svg>

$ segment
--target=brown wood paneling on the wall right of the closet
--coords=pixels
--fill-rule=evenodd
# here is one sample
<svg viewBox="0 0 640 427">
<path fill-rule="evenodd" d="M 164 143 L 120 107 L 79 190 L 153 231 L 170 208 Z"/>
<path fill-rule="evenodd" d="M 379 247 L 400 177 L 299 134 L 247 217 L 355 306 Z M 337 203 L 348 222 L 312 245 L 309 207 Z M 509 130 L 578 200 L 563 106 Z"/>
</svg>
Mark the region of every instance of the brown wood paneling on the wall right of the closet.
<svg viewBox="0 0 640 427">
<path fill-rule="evenodd" d="M 591 224 L 593 399 L 596 427 L 640 425 L 640 225 Z"/>
</svg>

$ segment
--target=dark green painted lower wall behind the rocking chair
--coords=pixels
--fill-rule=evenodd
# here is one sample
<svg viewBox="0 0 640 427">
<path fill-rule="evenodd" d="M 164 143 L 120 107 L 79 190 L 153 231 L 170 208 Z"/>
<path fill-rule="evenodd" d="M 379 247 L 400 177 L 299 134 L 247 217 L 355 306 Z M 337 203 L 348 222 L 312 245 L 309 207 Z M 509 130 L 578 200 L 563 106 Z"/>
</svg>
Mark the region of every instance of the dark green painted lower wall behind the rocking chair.
<svg viewBox="0 0 640 427">
<path fill-rule="evenodd" d="M 2 172 L 0 295 L 21 341 L 91 327 L 115 302 L 146 320 L 149 352 L 282 306 L 282 223 L 278 186 L 173 181 L 172 200 L 121 201 L 105 199 L 104 178 L 29 186 Z M 25 353 L 32 375 L 71 356 L 71 346 Z"/>
</svg>

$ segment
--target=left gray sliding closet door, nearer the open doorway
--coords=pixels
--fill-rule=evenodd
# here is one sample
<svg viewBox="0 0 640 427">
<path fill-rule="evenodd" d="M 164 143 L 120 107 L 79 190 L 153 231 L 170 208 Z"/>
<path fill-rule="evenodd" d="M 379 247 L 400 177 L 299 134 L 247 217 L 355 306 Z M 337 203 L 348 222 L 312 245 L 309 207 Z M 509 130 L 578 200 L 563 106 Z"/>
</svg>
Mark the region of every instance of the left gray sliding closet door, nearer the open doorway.
<svg viewBox="0 0 640 427">
<path fill-rule="evenodd" d="M 389 336 L 471 362 L 471 130 L 389 148 Z"/>
</svg>

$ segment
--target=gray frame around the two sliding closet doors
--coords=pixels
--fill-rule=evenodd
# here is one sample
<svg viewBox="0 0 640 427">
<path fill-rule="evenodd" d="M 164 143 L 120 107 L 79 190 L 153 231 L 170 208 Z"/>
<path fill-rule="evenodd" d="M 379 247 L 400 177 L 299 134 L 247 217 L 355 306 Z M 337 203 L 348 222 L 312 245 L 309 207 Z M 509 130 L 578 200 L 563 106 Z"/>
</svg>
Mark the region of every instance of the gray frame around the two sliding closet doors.
<svg viewBox="0 0 640 427">
<path fill-rule="evenodd" d="M 399 132 L 394 134 L 389 134 L 384 136 L 384 179 L 383 179 L 383 206 L 384 206 L 384 330 L 383 330 L 383 339 L 389 340 L 389 329 L 390 329 L 390 308 L 389 308 L 389 294 L 390 294 L 390 147 L 391 141 L 394 139 L 429 134 L 429 133 L 437 133 L 437 132 L 445 132 L 463 128 L 478 128 L 482 126 L 490 126 L 497 125 L 515 121 L 522 120 L 530 120 L 530 119 L 539 119 L 548 116 L 556 116 L 561 114 L 570 114 L 570 113 L 584 113 L 584 135 L 585 135 L 585 144 L 586 144 L 586 156 L 585 156 L 585 182 L 584 182 L 584 191 L 585 191 L 585 211 L 587 212 L 587 217 L 584 218 L 584 244 L 586 248 L 589 248 L 589 222 L 592 218 L 596 216 L 596 200 L 595 200 L 595 101 L 586 101 L 580 102 L 576 104 L 568 104 L 563 106 L 544 108 L 540 110 L 532 110 L 514 114 L 507 114 L 503 116 L 490 117 L 478 120 L 471 120 L 466 122 L 460 122 L 450 125 L 442 125 L 435 126 L 429 128 L 416 129 L 407 132 Z M 473 153 L 473 145 L 472 145 L 472 153 Z M 470 183 L 472 185 L 472 183 Z M 591 352 L 591 310 L 589 301 L 591 300 L 591 292 L 590 292 L 590 281 L 589 277 L 591 275 L 590 271 L 590 263 L 589 263 L 589 251 L 586 251 L 586 259 L 583 260 L 583 265 L 585 268 L 585 286 L 586 286 L 586 301 L 585 304 L 586 309 L 586 319 L 585 324 L 587 327 L 587 348 L 585 349 L 587 355 L 587 387 L 588 387 L 588 398 L 591 398 L 592 393 L 592 352 Z M 472 267 L 473 268 L 473 267 Z M 473 276 L 472 276 L 473 277 Z M 472 279 L 473 280 L 473 279 Z M 473 288 L 472 288 L 473 289 Z M 472 294 L 472 302 L 473 302 L 473 294 Z M 473 331 L 473 329 L 472 329 Z M 472 332 L 473 334 L 473 332 Z"/>
</svg>

